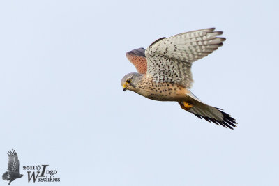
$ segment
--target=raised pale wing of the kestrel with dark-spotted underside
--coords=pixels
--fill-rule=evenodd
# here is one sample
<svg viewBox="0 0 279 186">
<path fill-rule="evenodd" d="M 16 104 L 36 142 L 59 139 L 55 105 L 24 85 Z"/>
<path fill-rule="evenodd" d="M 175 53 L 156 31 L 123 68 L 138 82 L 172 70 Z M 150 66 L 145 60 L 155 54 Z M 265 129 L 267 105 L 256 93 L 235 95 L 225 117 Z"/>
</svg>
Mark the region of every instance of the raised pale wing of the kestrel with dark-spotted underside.
<svg viewBox="0 0 279 186">
<path fill-rule="evenodd" d="M 191 66 L 223 45 L 222 31 L 202 29 L 160 38 L 145 51 L 147 72 L 154 82 L 173 82 L 191 88 Z"/>
</svg>

